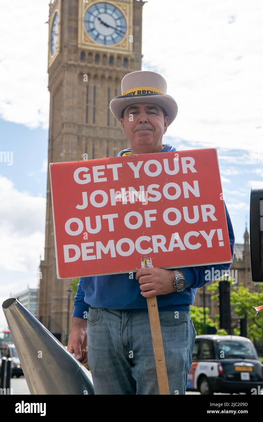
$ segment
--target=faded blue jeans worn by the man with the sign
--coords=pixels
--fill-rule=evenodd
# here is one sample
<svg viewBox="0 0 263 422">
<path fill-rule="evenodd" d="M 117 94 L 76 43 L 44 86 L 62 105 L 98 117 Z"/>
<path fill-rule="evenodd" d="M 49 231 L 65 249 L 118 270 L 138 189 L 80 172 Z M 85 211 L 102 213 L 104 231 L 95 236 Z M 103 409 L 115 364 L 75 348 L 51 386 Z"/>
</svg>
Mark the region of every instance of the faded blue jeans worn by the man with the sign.
<svg viewBox="0 0 263 422">
<path fill-rule="evenodd" d="M 185 394 L 196 331 L 190 311 L 159 311 L 170 394 Z M 89 307 L 95 394 L 159 394 L 148 311 Z"/>
</svg>

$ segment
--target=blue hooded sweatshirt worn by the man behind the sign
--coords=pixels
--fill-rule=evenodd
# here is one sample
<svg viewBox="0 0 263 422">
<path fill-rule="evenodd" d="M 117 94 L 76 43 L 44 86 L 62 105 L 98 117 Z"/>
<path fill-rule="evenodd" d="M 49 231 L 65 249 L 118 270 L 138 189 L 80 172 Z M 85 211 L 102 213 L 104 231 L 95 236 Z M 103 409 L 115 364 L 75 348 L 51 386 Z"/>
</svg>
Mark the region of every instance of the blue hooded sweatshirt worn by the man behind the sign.
<svg viewBox="0 0 263 422">
<path fill-rule="evenodd" d="M 176 148 L 170 143 L 163 144 L 163 149 L 160 152 L 167 151 L 176 151 Z M 129 154 L 131 154 L 131 150 L 127 148 L 119 152 L 118 157 Z M 233 262 L 235 237 L 226 206 L 225 214 Z M 218 273 L 216 271 L 220 270 L 221 275 L 221 271 L 229 270 L 232 262 L 197 267 L 180 267 L 179 270 L 182 271 L 186 279 L 186 288 L 182 292 L 157 295 L 158 309 L 160 311 L 190 311 L 190 305 L 193 305 L 195 301 L 197 288 L 213 280 L 213 274 L 215 274 L 215 279 L 219 278 L 220 276 L 217 276 Z M 210 276 L 207 276 L 206 270 L 210 270 Z M 74 301 L 73 317 L 84 318 L 89 306 L 123 309 L 126 311 L 147 311 L 146 298 L 141 295 L 140 284 L 135 276 L 136 272 L 130 273 L 130 275 L 129 273 L 120 273 L 106 276 L 80 277 Z"/>
</svg>

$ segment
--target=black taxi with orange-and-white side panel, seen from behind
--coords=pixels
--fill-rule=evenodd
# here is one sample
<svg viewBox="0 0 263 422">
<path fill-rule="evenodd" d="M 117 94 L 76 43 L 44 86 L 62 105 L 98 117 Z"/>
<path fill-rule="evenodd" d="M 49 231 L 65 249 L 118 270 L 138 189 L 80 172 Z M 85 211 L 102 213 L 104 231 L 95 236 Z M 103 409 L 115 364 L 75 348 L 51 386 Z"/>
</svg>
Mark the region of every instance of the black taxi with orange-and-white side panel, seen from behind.
<svg viewBox="0 0 263 422">
<path fill-rule="evenodd" d="M 263 388 L 263 365 L 254 344 L 237 335 L 197 335 L 187 390 L 257 394 Z M 255 392 L 254 392 L 255 394 Z"/>
</svg>

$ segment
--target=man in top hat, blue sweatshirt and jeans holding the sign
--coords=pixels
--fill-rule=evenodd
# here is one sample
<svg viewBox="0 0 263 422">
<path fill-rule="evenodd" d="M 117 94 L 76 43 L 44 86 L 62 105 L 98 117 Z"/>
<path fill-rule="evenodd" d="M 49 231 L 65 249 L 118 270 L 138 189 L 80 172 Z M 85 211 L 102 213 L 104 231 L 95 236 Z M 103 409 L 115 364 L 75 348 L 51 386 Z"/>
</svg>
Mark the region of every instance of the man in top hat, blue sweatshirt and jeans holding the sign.
<svg viewBox="0 0 263 422">
<path fill-rule="evenodd" d="M 160 74 L 128 73 L 122 79 L 122 95 L 111 100 L 110 107 L 130 142 L 130 148 L 119 152 L 118 157 L 176 151 L 169 143 L 163 144 L 163 135 L 176 118 L 177 104 L 166 94 L 166 81 Z M 233 260 L 235 238 L 225 202 L 224 207 Z M 203 221 L 207 221 L 206 214 L 202 215 Z M 219 230 L 219 246 L 223 246 Z M 231 264 L 228 261 L 172 269 L 148 267 L 136 273 L 81 277 L 68 350 L 75 352 L 81 363 L 88 362 L 95 394 L 159 394 L 146 303 L 146 298 L 154 296 L 157 296 L 170 394 L 185 394 L 196 336 L 190 305 L 194 303 L 197 288 L 213 279 L 211 273 L 227 271 Z M 210 277 L 205 277 L 207 271 Z"/>
</svg>

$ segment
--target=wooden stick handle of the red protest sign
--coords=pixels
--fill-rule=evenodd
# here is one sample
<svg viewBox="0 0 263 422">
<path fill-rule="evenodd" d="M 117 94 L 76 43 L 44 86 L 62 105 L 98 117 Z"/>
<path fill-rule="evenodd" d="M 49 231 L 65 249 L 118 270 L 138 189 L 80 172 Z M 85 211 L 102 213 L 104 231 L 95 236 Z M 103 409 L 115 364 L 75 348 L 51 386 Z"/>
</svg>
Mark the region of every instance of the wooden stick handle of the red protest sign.
<svg viewBox="0 0 263 422">
<path fill-rule="evenodd" d="M 144 258 L 141 260 L 142 268 L 152 267 L 152 260 Z M 158 313 L 157 298 L 146 298 L 149 321 L 152 334 L 152 346 L 155 355 L 155 368 L 159 387 L 159 394 L 170 394 L 167 369 L 165 364 L 165 356 L 163 350 L 163 338 L 160 326 L 160 318 Z"/>
</svg>

